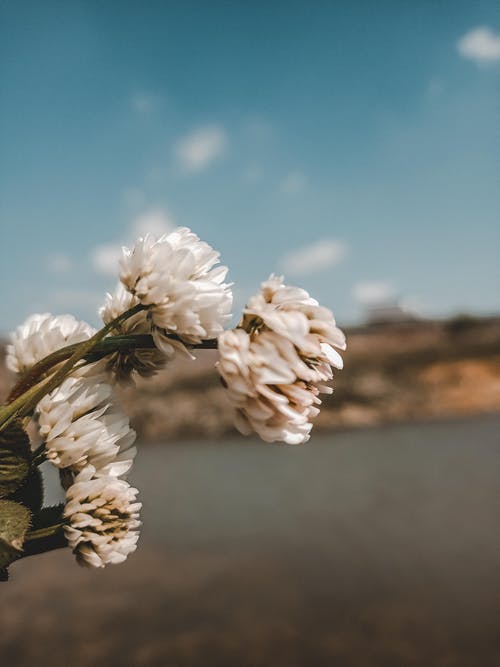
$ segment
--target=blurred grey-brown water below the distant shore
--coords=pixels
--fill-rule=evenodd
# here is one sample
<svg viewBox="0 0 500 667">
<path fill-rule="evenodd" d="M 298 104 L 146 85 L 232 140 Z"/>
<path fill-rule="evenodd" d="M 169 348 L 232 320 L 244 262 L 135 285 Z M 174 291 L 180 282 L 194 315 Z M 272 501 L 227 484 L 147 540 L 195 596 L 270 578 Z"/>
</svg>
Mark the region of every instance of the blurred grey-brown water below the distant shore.
<svg viewBox="0 0 500 667">
<path fill-rule="evenodd" d="M 14 565 L 2 664 L 500 665 L 499 431 L 144 448 L 138 552 Z"/>
</svg>

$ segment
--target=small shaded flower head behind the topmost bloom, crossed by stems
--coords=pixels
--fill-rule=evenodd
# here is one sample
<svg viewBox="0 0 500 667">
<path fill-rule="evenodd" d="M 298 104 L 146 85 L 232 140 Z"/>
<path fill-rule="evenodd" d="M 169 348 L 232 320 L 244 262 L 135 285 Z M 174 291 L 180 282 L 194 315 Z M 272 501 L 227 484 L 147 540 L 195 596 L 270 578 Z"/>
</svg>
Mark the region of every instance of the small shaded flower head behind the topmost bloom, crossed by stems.
<svg viewBox="0 0 500 667">
<path fill-rule="evenodd" d="M 139 299 L 127 292 L 122 283 L 118 283 L 113 294 L 106 295 L 104 306 L 99 314 L 104 324 L 109 324 L 116 317 L 139 303 Z M 140 311 L 121 322 L 113 332 L 115 335 L 151 334 L 151 320 L 146 311 Z M 128 382 L 133 372 L 148 378 L 164 368 L 172 356 L 161 352 L 156 347 L 131 349 L 129 352 L 115 352 L 106 357 L 106 368 L 119 382 Z"/>
</svg>

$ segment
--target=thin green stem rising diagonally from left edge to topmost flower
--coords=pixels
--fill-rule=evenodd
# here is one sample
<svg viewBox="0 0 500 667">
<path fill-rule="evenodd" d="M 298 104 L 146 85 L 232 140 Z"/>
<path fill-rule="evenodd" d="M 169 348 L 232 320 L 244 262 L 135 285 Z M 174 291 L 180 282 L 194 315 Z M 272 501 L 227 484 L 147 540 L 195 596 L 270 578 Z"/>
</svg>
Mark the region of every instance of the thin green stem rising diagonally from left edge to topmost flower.
<svg viewBox="0 0 500 667">
<path fill-rule="evenodd" d="M 34 387 L 25 391 L 21 396 L 16 398 L 12 403 L 0 410 L 0 431 L 3 430 L 15 418 L 24 417 L 29 414 L 37 405 L 37 403 L 53 389 L 58 387 L 67 375 L 73 370 L 75 364 L 84 358 L 92 348 L 101 341 L 110 331 L 117 327 L 121 322 L 132 317 L 146 306 L 137 304 L 125 313 L 122 313 L 109 324 L 106 324 L 100 329 L 92 338 L 89 338 L 83 343 L 79 343 L 73 354 L 67 359 L 65 363 L 52 375 L 46 382 L 38 383 Z"/>
</svg>

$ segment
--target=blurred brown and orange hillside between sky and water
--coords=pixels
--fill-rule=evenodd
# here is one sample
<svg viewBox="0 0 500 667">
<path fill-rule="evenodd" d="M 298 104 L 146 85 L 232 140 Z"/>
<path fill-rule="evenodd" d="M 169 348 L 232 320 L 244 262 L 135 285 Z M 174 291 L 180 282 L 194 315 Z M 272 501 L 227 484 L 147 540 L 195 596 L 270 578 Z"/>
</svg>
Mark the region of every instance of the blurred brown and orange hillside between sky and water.
<svg viewBox="0 0 500 667">
<path fill-rule="evenodd" d="M 500 318 L 456 318 L 346 331 L 345 367 L 336 373 L 317 430 L 500 412 Z M 216 352 L 174 362 L 150 381 L 122 390 L 143 440 L 234 433 Z M 12 381 L 0 373 L 6 395 Z"/>
</svg>

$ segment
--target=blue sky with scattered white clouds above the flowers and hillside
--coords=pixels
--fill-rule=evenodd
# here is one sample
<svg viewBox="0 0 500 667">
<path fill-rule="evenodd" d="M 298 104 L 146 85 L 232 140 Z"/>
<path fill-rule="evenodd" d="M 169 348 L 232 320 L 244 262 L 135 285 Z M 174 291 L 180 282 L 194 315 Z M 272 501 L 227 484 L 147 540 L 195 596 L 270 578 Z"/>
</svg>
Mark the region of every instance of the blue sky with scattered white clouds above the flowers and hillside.
<svg viewBox="0 0 500 667">
<path fill-rule="evenodd" d="M 97 322 L 120 244 L 187 225 L 237 307 L 500 311 L 500 5 L 0 3 L 2 322 Z"/>
</svg>

